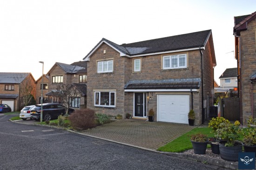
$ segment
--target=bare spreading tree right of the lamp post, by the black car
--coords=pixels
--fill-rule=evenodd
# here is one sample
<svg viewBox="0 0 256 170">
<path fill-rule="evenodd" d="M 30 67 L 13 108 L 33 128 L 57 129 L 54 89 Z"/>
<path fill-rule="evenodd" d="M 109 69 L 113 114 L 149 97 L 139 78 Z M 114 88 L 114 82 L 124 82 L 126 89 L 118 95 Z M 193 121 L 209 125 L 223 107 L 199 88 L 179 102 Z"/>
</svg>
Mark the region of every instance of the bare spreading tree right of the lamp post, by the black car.
<svg viewBox="0 0 256 170">
<path fill-rule="evenodd" d="M 80 97 L 81 93 L 79 89 L 74 84 L 59 84 L 56 88 L 57 95 L 60 97 L 62 104 L 67 108 L 66 115 L 68 114 L 68 109 L 72 102 L 72 97 Z"/>
</svg>

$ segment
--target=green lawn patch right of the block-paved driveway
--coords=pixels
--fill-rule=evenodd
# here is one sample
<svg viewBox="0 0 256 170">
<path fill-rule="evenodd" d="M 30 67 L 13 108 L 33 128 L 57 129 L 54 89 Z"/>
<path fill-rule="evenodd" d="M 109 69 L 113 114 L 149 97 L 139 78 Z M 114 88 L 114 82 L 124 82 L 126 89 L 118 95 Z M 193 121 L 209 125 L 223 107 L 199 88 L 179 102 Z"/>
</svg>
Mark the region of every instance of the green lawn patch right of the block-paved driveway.
<svg viewBox="0 0 256 170">
<path fill-rule="evenodd" d="M 168 144 L 160 147 L 157 151 L 166 151 L 166 152 L 182 152 L 189 149 L 192 149 L 193 146 L 190 141 L 190 136 L 195 133 L 201 132 L 202 134 L 206 134 L 208 137 L 213 137 L 214 134 L 211 133 L 211 128 L 209 127 L 197 127 L 192 129 L 191 131 L 183 134 L 182 136 L 174 139 Z M 210 147 L 210 145 L 208 146 Z"/>
</svg>

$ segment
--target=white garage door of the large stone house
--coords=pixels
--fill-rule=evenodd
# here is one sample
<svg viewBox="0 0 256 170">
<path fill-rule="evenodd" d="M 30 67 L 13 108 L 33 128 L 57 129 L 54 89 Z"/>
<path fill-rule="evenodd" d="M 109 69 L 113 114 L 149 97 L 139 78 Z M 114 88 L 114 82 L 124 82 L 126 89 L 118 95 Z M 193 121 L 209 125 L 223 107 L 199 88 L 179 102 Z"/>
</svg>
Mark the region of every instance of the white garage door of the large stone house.
<svg viewBox="0 0 256 170">
<path fill-rule="evenodd" d="M 159 94 L 157 121 L 188 124 L 189 95 Z"/>
</svg>

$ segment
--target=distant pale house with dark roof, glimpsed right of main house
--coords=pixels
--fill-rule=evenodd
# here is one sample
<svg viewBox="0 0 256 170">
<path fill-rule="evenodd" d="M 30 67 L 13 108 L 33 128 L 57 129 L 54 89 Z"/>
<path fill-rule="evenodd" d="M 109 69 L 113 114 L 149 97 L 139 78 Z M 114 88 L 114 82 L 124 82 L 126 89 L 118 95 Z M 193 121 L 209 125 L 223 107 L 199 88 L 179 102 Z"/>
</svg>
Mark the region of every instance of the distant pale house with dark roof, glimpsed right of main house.
<svg viewBox="0 0 256 170">
<path fill-rule="evenodd" d="M 237 95 L 237 68 L 226 69 L 219 77 L 220 87 L 215 88 L 216 92 L 228 93 L 230 97 Z"/>
</svg>

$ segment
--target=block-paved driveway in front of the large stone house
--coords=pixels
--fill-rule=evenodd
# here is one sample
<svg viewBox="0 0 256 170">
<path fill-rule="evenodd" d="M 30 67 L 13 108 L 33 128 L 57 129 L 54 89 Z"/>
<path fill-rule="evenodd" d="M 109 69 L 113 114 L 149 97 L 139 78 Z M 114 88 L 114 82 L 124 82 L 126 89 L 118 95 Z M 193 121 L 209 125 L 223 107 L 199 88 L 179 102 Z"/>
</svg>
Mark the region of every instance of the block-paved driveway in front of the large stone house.
<svg viewBox="0 0 256 170">
<path fill-rule="evenodd" d="M 81 133 L 128 145 L 135 145 L 141 148 L 156 150 L 160 146 L 167 144 L 193 128 L 195 128 L 195 126 L 125 119 L 97 126 L 82 131 Z"/>
</svg>

